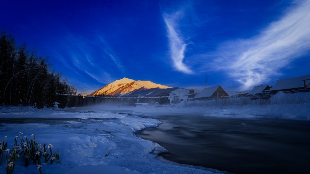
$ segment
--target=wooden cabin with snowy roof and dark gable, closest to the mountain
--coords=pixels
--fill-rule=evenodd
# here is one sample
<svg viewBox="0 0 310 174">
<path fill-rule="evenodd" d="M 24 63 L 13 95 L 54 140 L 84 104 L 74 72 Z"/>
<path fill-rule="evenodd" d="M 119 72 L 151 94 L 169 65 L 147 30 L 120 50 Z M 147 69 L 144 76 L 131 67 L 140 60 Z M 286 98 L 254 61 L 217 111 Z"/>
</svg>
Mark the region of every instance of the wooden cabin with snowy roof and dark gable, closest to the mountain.
<svg viewBox="0 0 310 174">
<path fill-rule="evenodd" d="M 228 97 L 228 94 L 218 85 L 202 89 L 199 94 L 195 95 L 194 99 L 220 99 L 224 97 Z"/>
</svg>

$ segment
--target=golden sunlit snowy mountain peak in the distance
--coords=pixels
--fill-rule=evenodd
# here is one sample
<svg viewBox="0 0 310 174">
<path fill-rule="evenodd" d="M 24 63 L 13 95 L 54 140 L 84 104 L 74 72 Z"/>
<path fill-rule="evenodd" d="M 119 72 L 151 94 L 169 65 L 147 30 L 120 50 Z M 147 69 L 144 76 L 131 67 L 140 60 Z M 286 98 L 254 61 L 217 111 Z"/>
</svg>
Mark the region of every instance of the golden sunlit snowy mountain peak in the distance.
<svg viewBox="0 0 310 174">
<path fill-rule="evenodd" d="M 103 88 L 96 90 L 95 92 L 89 94 L 89 96 L 95 96 L 95 95 L 123 96 L 138 89 L 152 89 L 152 88 L 167 89 L 171 87 L 156 84 L 151 81 L 142 81 L 142 80 L 135 81 L 124 77 L 121 80 L 115 80 L 114 82 L 104 86 Z"/>
</svg>

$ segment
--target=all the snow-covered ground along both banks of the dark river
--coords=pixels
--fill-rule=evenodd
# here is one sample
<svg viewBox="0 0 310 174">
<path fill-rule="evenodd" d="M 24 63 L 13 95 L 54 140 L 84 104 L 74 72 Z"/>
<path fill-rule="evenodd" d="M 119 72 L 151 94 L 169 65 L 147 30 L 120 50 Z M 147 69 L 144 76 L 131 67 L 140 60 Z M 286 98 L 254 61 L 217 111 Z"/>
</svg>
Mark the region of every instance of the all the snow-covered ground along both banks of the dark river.
<svg viewBox="0 0 310 174">
<path fill-rule="evenodd" d="M 156 142 L 143 140 L 135 132 L 161 124 L 157 114 L 198 114 L 235 118 L 280 118 L 310 120 L 310 94 L 279 94 L 267 101 L 232 99 L 225 102 L 191 101 L 174 105 L 140 107 L 92 106 L 81 108 L 0 107 L 0 139 L 8 149 L 17 136 L 29 140 L 35 135 L 41 144 L 59 148 L 60 162 L 42 160 L 42 173 L 224 173 L 215 169 L 182 165 L 157 156 L 166 149 Z M 237 102 L 239 101 L 239 102 Z M 20 133 L 23 133 L 20 135 Z M 6 138 L 7 136 L 7 138 Z M 112 148 L 113 147 L 113 148 Z M 112 149 L 112 150 L 111 150 Z M 111 152 L 109 153 L 109 151 Z M 6 172 L 3 152 L 0 173 Z M 9 155 L 11 153 L 8 152 Z M 108 154 L 109 153 L 109 154 Z M 105 156 L 108 154 L 107 156 Z M 37 164 L 24 167 L 22 158 L 13 173 L 39 173 Z"/>
</svg>

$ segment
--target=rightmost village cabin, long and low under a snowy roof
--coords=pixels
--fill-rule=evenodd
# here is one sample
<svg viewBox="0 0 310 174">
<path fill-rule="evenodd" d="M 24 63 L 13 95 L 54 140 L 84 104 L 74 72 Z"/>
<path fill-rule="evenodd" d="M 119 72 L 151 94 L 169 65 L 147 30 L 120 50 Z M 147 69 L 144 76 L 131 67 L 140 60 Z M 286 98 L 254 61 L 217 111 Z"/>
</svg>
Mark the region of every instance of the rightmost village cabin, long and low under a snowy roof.
<svg viewBox="0 0 310 174">
<path fill-rule="evenodd" d="M 277 83 L 271 89 L 266 90 L 269 92 L 277 91 L 294 91 L 294 90 L 309 90 L 310 89 L 310 75 L 292 77 L 277 80 Z"/>
</svg>

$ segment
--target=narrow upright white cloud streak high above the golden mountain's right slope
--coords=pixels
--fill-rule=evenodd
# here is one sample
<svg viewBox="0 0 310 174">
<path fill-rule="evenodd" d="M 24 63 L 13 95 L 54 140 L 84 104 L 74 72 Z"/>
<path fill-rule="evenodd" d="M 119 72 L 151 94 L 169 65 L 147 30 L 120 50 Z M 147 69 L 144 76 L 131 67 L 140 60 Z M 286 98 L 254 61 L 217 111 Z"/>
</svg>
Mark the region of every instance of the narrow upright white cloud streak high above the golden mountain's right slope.
<svg viewBox="0 0 310 174">
<path fill-rule="evenodd" d="M 173 61 L 173 66 L 180 72 L 193 74 L 193 71 L 183 63 L 186 44 L 182 40 L 182 37 L 177 30 L 177 20 L 179 20 L 179 18 L 182 16 L 182 11 L 177 11 L 172 15 L 164 14 L 163 16 L 166 23 L 170 46 L 170 56 Z"/>
</svg>

